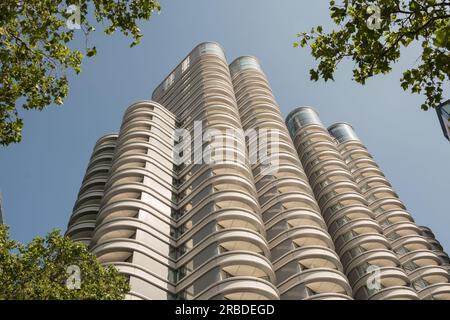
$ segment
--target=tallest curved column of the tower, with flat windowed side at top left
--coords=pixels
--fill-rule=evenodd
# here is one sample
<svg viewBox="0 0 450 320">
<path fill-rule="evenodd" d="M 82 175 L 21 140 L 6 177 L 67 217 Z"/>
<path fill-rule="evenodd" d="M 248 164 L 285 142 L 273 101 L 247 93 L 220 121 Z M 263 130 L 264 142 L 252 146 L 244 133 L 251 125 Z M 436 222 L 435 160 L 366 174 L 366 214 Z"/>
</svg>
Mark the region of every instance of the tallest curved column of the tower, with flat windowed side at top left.
<svg viewBox="0 0 450 320">
<path fill-rule="evenodd" d="M 175 172 L 179 297 L 278 299 L 253 178 L 235 134 L 242 127 L 222 48 L 210 42 L 194 48 L 153 99 L 191 138 L 180 142 L 191 149 Z"/>
</svg>

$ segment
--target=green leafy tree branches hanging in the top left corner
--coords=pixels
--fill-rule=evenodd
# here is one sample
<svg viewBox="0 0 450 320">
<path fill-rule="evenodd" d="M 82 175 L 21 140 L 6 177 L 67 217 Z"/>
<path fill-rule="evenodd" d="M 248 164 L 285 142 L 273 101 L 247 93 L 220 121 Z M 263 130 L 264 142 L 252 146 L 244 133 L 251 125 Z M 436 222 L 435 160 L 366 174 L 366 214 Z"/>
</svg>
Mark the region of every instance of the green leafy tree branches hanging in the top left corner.
<svg viewBox="0 0 450 320">
<path fill-rule="evenodd" d="M 142 37 L 139 20 L 160 10 L 155 0 L 1 0 L 0 1 L 0 144 L 20 142 L 23 121 L 18 108 L 42 110 L 61 105 L 68 94 L 67 71 L 79 73 L 84 56 L 96 54 L 69 48 L 76 32 L 86 37 L 95 31 L 88 21 Z M 80 30 L 77 30 L 77 29 Z"/>
</svg>

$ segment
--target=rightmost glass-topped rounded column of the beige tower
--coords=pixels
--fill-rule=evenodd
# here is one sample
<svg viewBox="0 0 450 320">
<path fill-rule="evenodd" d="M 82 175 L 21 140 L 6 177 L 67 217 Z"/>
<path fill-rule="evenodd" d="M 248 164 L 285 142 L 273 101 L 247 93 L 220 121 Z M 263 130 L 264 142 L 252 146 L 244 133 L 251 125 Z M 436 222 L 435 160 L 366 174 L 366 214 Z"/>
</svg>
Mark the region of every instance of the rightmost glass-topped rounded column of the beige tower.
<svg viewBox="0 0 450 320">
<path fill-rule="evenodd" d="M 449 274 L 433 252 L 422 230 L 414 223 L 384 174 L 356 136 L 353 128 L 338 123 L 329 128 L 338 149 L 376 220 L 397 253 L 403 269 L 421 299 L 449 299 Z"/>
</svg>

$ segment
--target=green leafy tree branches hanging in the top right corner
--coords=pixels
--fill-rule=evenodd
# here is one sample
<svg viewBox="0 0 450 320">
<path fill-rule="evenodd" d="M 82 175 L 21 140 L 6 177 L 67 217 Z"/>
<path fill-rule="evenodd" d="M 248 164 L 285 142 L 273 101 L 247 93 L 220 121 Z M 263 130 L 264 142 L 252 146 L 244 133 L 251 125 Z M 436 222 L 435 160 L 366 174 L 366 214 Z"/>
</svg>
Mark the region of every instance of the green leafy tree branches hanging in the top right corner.
<svg viewBox="0 0 450 320">
<path fill-rule="evenodd" d="M 333 80 L 338 64 L 355 63 L 353 79 L 364 84 L 377 74 L 391 71 L 401 50 L 416 43 L 421 55 L 403 72 L 404 90 L 425 93 L 423 110 L 443 100 L 450 80 L 450 1 L 448 0 L 342 0 L 330 1 L 337 30 L 322 26 L 299 33 L 294 47 L 309 46 L 318 66 L 311 80 Z"/>
</svg>

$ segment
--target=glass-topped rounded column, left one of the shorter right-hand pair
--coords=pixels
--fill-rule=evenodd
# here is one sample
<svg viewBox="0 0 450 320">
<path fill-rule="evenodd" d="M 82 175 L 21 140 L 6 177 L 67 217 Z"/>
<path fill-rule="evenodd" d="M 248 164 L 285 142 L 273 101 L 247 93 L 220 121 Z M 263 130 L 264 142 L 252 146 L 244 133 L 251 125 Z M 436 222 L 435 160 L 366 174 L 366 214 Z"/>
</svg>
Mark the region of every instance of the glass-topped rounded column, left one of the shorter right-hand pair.
<svg viewBox="0 0 450 320">
<path fill-rule="evenodd" d="M 382 228 L 317 113 L 287 118 L 300 160 L 341 257 L 355 299 L 417 299 Z"/>
</svg>

